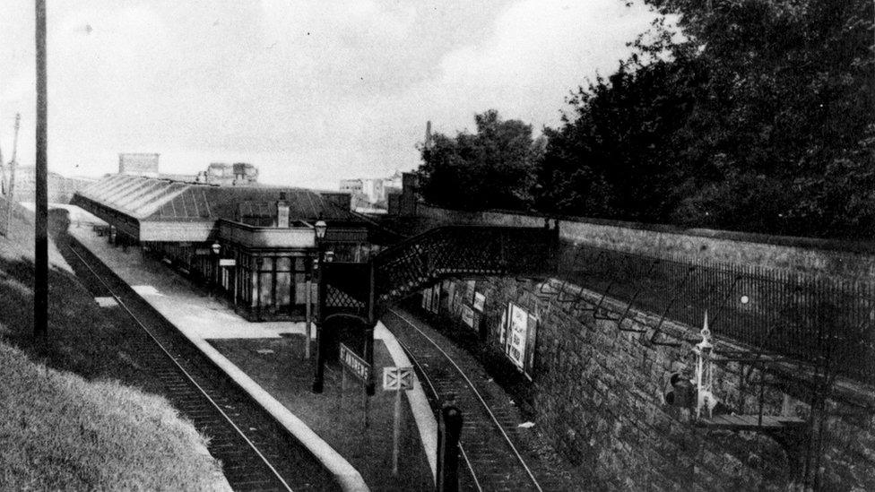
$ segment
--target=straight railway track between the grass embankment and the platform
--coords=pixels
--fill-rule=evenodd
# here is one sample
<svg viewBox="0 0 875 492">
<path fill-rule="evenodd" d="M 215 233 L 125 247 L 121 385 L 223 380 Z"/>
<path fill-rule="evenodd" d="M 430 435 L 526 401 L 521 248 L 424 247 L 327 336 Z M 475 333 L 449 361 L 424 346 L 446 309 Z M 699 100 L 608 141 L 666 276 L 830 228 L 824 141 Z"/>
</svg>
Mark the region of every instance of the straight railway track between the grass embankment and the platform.
<svg viewBox="0 0 875 492">
<path fill-rule="evenodd" d="M 117 323 L 132 325 L 137 362 L 195 428 L 222 463 L 235 490 L 339 489 L 334 477 L 273 417 L 197 350 L 177 328 L 73 237 L 61 248 L 67 263 L 95 297 L 114 299 Z M 61 245 L 59 245 L 61 246 Z"/>
</svg>

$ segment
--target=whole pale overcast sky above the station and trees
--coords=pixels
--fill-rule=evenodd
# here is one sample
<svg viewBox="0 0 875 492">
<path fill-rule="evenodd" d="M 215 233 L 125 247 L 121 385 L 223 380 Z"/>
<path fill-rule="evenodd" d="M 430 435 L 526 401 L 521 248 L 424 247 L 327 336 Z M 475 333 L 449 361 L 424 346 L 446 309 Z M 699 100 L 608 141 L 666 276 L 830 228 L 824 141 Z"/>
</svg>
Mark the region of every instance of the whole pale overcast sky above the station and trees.
<svg viewBox="0 0 875 492">
<path fill-rule="evenodd" d="M 49 169 L 161 172 L 246 161 L 261 181 L 336 188 L 419 163 L 425 123 L 489 108 L 540 132 L 611 73 L 654 14 L 623 0 L 48 2 Z M 34 155 L 33 4 L 0 2 L 0 145 Z"/>
</svg>

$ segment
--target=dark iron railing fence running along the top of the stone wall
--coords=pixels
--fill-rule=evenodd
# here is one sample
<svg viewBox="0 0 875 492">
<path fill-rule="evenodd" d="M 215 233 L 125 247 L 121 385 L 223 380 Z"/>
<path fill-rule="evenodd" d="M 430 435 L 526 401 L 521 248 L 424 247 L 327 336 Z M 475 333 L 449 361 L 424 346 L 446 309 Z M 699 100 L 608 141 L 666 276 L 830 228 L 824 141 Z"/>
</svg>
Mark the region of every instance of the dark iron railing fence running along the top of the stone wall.
<svg viewBox="0 0 875 492">
<path fill-rule="evenodd" d="M 814 365 L 832 361 L 839 374 L 875 381 L 875 285 L 770 270 L 753 265 L 657 259 L 593 246 L 567 246 L 561 281 L 628 308 L 701 326 L 730 341 Z M 560 292 L 563 302 L 591 302 Z M 592 306 L 590 306 L 592 308 Z"/>
</svg>

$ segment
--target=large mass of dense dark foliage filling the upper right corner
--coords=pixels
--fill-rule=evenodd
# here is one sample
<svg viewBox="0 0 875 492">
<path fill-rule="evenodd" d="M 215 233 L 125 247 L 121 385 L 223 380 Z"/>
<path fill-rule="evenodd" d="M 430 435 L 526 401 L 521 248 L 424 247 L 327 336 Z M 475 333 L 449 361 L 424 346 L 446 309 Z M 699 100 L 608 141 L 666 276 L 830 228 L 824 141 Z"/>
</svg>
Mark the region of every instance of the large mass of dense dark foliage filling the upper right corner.
<svg viewBox="0 0 875 492">
<path fill-rule="evenodd" d="M 655 22 L 616 73 L 569 99 L 563 124 L 545 129 L 546 150 L 526 167 L 535 174 L 531 196 L 514 178 L 514 192 L 490 193 L 516 201 L 466 206 L 871 238 L 871 1 L 651 3 L 663 15 L 681 13 L 680 20 Z M 424 168 L 432 166 L 430 200 L 442 193 L 428 188 L 441 165 L 434 153 L 423 154 Z"/>
</svg>

